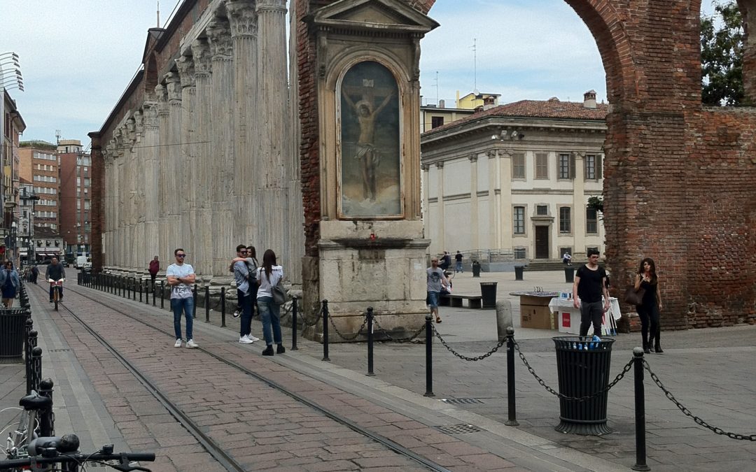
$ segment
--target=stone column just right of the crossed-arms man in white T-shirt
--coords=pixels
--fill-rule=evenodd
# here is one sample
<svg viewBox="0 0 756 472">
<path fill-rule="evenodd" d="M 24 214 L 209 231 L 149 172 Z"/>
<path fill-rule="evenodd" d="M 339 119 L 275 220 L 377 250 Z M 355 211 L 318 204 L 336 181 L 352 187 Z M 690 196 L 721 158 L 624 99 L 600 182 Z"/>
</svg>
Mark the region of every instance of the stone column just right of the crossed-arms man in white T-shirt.
<svg viewBox="0 0 756 472">
<path fill-rule="evenodd" d="M 210 135 L 212 119 L 210 103 L 212 85 L 210 75 L 210 47 L 207 39 L 197 39 L 191 45 L 194 56 L 196 97 L 194 103 L 194 199 L 191 208 L 191 226 L 194 235 L 192 261 L 194 270 L 203 276 L 212 275 L 212 230 L 210 189 L 212 187 L 212 156 Z"/>
</svg>

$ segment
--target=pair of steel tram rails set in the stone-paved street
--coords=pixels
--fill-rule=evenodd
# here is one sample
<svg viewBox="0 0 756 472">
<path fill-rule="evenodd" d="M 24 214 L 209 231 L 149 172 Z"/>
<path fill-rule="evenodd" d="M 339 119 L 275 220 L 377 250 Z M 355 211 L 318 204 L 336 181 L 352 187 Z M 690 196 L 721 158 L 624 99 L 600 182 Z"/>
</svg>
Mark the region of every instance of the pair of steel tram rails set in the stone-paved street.
<svg viewBox="0 0 756 472">
<path fill-rule="evenodd" d="M 93 298 L 83 293 L 81 290 L 79 290 L 78 285 L 74 285 L 74 286 L 77 288 L 72 289 L 70 287 L 67 287 L 67 292 L 73 292 L 73 293 L 76 293 L 76 295 L 81 296 L 82 298 L 88 299 L 89 301 L 94 301 L 95 303 L 103 304 L 103 301 L 101 299 Z M 37 294 L 36 296 L 39 301 L 39 294 Z M 125 369 L 128 369 L 129 372 L 131 372 L 132 375 L 134 375 L 135 378 L 137 378 L 138 381 L 140 381 L 140 383 L 145 387 L 145 389 L 151 395 L 153 395 L 156 398 L 156 400 L 158 400 L 171 413 L 171 415 L 173 415 L 174 418 L 176 418 L 176 421 L 178 421 L 183 427 L 187 429 L 187 431 L 189 431 L 189 433 L 191 433 L 197 439 L 197 441 L 203 446 L 203 448 L 205 448 L 206 451 L 210 455 L 212 455 L 212 457 L 215 458 L 215 460 L 218 461 L 219 464 L 222 464 L 222 466 L 225 467 L 227 470 L 247 470 L 245 467 L 239 464 L 239 462 L 235 461 L 234 458 L 231 457 L 231 455 L 228 455 L 228 453 L 226 453 L 222 449 L 222 447 L 218 445 L 218 443 L 215 443 L 215 441 L 212 440 L 212 438 L 210 438 L 206 433 L 204 433 L 202 428 L 198 424 L 196 424 L 191 418 L 189 418 L 189 416 L 186 415 L 179 406 L 173 403 L 165 394 L 160 392 L 160 388 L 157 387 L 156 384 L 153 383 L 153 381 L 150 381 L 150 378 L 148 378 L 147 375 L 144 375 L 144 373 L 142 373 L 141 370 L 137 366 L 135 366 L 132 362 L 130 362 L 129 359 L 126 359 L 125 356 L 123 356 L 121 353 L 119 353 L 119 351 L 116 350 L 116 348 L 113 347 L 113 345 L 110 344 L 95 329 L 93 329 L 91 325 L 85 322 L 80 316 L 74 313 L 73 310 L 71 310 L 65 304 L 60 304 L 60 307 L 63 307 L 66 313 L 69 313 L 70 316 L 73 317 L 73 319 L 76 319 L 76 322 L 82 325 L 82 327 L 92 337 L 97 339 L 98 342 L 101 343 L 108 350 L 108 352 L 110 352 L 114 357 L 116 357 L 116 359 L 118 359 L 118 361 L 121 362 L 122 365 L 125 367 Z M 132 319 L 135 322 L 139 322 L 141 325 L 145 325 L 148 328 L 155 330 L 156 332 L 161 332 L 165 334 L 166 336 L 173 338 L 172 332 L 169 332 L 168 330 L 163 329 L 160 326 L 153 325 L 150 322 L 144 321 L 144 319 L 140 319 L 138 317 L 132 316 L 131 314 L 126 313 L 123 310 L 119 310 L 118 308 L 113 307 L 112 305 L 107 305 L 107 308 L 109 310 L 113 310 L 116 313 L 119 313 L 122 316 Z M 357 424 L 355 421 L 352 421 L 343 415 L 339 415 L 338 413 L 333 412 L 332 410 L 327 409 L 324 406 L 321 406 L 312 400 L 309 400 L 305 396 L 299 393 L 296 393 L 290 388 L 283 386 L 282 384 L 278 383 L 277 381 L 274 381 L 271 378 L 266 377 L 265 375 L 261 375 L 258 372 L 254 372 L 253 370 L 240 365 L 238 362 L 234 362 L 234 360 L 225 358 L 224 356 L 214 353 L 205 347 L 198 347 L 197 350 L 205 353 L 206 355 L 212 357 L 218 362 L 224 363 L 225 365 L 231 367 L 232 369 L 237 370 L 238 372 L 242 372 L 244 375 L 254 378 L 256 381 L 260 381 L 263 384 L 267 385 L 268 387 L 271 387 L 272 389 L 277 390 L 278 392 L 289 396 L 290 398 L 295 400 L 297 403 L 302 403 L 308 408 L 313 409 L 314 411 L 320 413 L 321 415 L 324 415 L 326 418 L 330 418 L 331 420 L 336 421 L 339 424 L 342 424 L 343 426 L 349 428 L 355 433 L 358 433 L 361 436 L 367 437 L 368 439 L 374 441 L 375 443 L 379 443 L 380 445 L 386 447 L 387 449 L 392 450 L 396 454 L 401 455 L 404 458 L 407 458 L 411 461 L 416 462 L 422 467 L 425 467 L 427 470 L 436 470 L 438 472 L 449 472 L 449 469 L 442 466 L 441 464 L 437 464 L 436 462 L 431 461 L 430 459 L 425 458 L 422 455 L 417 454 L 416 452 L 413 452 L 411 449 L 407 449 L 406 447 L 401 446 L 401 444 L 398 444 L 395 441 L 392 441 L 381 434 L 375 433 L 374 431 L 367 429 L 367 427 L 363 427 L 360 424 Z"/>
</svg>

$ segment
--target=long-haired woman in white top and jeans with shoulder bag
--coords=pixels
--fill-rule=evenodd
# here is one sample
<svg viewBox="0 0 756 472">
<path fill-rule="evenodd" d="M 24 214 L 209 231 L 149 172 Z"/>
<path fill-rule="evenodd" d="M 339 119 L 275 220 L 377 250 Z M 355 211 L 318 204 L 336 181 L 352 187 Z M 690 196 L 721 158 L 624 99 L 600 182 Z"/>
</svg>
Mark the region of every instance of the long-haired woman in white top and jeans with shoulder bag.
<svg viewBox="0 0 756 472">
<path fill-rule="evenodd" d="M 257 268 L 257 309 L 262 318 L 262 337 L 265 338 L 263 356 L 273 355 L 273 343 L 278 344 L 276 353 L 283 354 L 286 349 L 281 344 L 280 305 L 273 302 L 271 288 L 283 279 L 283 267 L 276 264 L 276 253 L 266 249 L 262 255 L 262 267 Z"/>
</svg>

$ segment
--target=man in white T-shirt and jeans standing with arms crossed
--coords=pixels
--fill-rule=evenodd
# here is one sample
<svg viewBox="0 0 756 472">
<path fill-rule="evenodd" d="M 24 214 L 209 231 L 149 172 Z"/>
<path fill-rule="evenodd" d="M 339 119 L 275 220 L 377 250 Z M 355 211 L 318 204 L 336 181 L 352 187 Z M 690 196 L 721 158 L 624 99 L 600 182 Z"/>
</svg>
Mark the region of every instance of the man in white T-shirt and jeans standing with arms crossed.
<svg viewBox="0 0 756 472">
<path fill-rule="evenodd" d="M 194 267 L 184 262 L 187 257 L 186 251 L 177 248 L 173 251 L 176 262 L 166 269 L 166 279 L 171 287 L 171 310 L 173 310 L 173 331 L 176 342 L 173 347 L 181 347 L 181 312 L 187 319 L 187 344 L 191 348 L 198 347 L 194 342 L 194 295 L 191 292 L 191 284 L 194 283 Z"/>
</svg>

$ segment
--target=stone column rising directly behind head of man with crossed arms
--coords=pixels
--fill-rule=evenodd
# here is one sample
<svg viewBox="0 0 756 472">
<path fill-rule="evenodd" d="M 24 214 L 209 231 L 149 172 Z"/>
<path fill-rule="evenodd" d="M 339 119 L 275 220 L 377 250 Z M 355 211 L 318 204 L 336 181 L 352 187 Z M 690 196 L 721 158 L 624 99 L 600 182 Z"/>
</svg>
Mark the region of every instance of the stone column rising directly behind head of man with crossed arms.
<svg viewBox="0 0 756 472">
<path fill-rule="evenodd" d="M 195 242 L 197 237 L 194 235 L 192 226 L 192 212 L 197 205 L 197 199 L 194 193 L 197 188 L 197 162 L 194 149 L 194 113 L 196 106 L 197 89 L 194 86 L 194 60 L 191 56 L 181 56 L 176 60 L 178 75 L 181 78 L 181 132 L 178 142 L 179 166 L 176 168 L 178 181 L 176 185 L 178 192 L 178 208 L 180 214 L 180 233 L 179 240 L 181 247 L 190 255 L 191 264 L 197 262 L 197 250 Z M 178 247 L 178 246 L 177 246 Z"/>
</svg>

